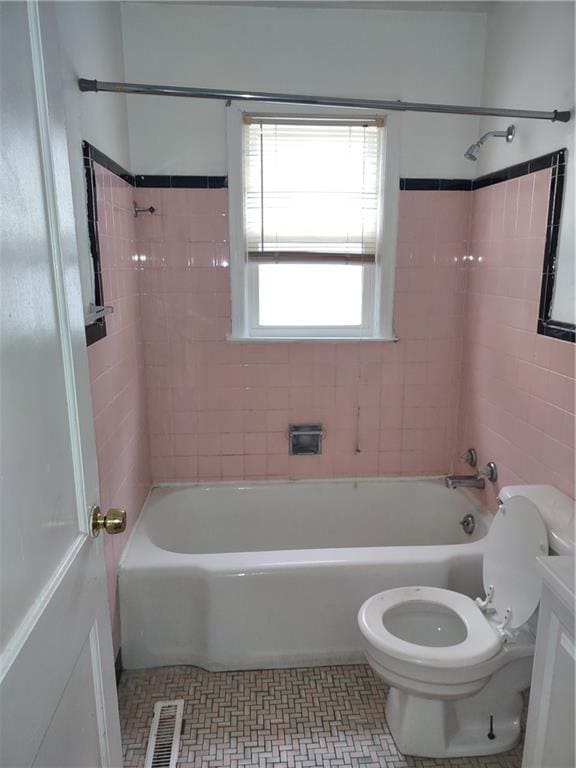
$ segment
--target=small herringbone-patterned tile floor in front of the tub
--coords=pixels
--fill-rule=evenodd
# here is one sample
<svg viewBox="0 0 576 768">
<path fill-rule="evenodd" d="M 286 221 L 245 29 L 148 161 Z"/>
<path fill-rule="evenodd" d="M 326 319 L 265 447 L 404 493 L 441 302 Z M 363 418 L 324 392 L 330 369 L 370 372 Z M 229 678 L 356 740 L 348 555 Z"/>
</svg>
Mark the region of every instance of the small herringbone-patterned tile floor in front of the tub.
<svg viewBox="0 0 576 768">
<path fill-rule="evenodd" d="M 127 671 L 120 683 L 125 768 L 144 765 L 154 702 L 185 699 L 179 768 L 520 768 L 521 749 L 433 760 L 401 755 L 369 667 Z"/>
</svg>

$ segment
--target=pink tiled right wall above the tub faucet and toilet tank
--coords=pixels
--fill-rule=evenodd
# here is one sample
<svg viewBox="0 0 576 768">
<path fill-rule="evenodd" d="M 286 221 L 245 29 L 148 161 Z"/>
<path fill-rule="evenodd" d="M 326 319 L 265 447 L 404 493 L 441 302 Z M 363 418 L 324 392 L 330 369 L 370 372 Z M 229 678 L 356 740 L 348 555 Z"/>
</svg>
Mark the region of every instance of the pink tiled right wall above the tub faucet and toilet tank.
<svg viewBox="0 0 576 768">
<path fill-rule="evenodd" d="M 550 170 L 472 193 L 459 451 L 574 496 L 574 344 L 536 334 Z"/>
</svg>

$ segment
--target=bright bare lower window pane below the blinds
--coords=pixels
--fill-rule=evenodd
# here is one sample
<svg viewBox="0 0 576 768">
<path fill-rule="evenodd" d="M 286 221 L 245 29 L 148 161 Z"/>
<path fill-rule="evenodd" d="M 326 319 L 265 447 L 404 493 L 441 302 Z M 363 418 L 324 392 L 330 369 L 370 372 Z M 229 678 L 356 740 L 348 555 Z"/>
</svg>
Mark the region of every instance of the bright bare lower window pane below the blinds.
<svg viewBox="0 0 576 768">
<path fill-rule="evenodd" d="M 260 325 L 362 325 L 357 264 L 259 264 Z"/>
</svg>

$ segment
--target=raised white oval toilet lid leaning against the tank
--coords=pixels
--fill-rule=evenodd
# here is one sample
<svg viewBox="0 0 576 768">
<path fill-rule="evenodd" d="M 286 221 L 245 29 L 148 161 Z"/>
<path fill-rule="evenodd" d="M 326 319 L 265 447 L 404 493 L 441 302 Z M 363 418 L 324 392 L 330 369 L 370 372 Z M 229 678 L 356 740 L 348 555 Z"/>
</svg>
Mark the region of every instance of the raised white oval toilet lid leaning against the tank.
<svg viewBox="0 0 576 768">
<path fill-rule="evenodd" d="M 548 554 L 548 535 L 538 507 L 524 496 L 502 504 L 486 536 L 482 576 L 486 594 L 494 589 L 497 618 L 521 627 L 540 602 L 541 578 L 536 558 Z"/>
</svg>

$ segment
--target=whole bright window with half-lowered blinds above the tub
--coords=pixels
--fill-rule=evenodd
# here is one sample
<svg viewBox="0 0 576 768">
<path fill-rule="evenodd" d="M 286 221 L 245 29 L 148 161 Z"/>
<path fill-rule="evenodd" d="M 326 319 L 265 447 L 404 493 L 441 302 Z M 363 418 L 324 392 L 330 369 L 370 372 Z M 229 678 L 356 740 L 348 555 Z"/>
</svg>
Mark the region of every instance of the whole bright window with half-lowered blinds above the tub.
<svg viewBox="0 0 576 768">
<path fill-rule="evenodd" d="M 233 336 L 383 338 L 383 119 L 238 112 Z"/>
</svg>

